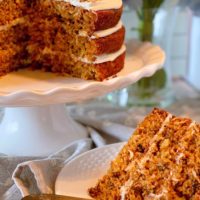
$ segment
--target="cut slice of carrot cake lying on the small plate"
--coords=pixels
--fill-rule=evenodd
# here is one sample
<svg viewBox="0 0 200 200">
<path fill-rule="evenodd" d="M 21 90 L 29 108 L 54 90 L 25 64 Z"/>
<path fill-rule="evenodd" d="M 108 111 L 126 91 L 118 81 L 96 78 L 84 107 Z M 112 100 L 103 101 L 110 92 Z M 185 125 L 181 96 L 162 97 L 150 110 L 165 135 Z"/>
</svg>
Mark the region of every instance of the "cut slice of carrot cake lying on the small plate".
<svg viewBox="0 0 200 200">
<path fill-rule="evenodd" d="M 199 200 L 200 125 L 154 109 L 89 194 L 99 200 Z"/>
</svg>

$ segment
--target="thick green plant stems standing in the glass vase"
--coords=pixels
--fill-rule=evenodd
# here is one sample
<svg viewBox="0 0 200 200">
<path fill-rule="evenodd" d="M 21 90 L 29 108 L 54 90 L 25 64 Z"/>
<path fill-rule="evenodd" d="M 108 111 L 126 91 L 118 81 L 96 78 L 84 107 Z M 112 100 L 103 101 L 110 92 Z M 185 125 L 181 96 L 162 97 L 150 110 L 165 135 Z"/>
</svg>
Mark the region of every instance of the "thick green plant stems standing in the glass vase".
<svg viewBox="0 0 200 200">
<path fill-rule="evenodd" d="M 154 19 L 164 0 L 143 0 L 136 9 L 139 19 L 138 31 L 141 41 L 153 42 Z M 143 78 L 137 83 L 136 95 L 140 98 L 150 98 L 159 89 L 165 87 L 167 75 L 164 69 L 158 70 L 152 77 Z"/>
</svg>

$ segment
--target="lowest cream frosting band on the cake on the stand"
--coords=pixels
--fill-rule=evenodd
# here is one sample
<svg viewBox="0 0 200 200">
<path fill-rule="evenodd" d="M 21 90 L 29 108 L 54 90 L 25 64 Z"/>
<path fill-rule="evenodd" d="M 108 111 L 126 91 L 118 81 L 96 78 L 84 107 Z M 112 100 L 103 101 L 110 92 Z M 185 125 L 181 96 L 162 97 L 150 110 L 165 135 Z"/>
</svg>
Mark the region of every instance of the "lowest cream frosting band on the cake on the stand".
<svg viewBox="0 0 200 200">
<path fill-rule="evenodd" d="M 115 52 L 115 53 L 103 54 L 103 55 L 100 55 L 100 56 L 96 56 L 96 60 L 95 61 L 89 61 L 87 58 L 79 58 L 78 60 L 80 60 L 80 61 L 82 61 L 84 63 L 88 63 L 88 64 L 100 64 L 100 63 L 105 63 L 105 62 L 112 62 L 117 57 L 122 55 L 125 51 L 126 51 L 126 46 L 123 45 L 121 47 L 121 49 L 119 51 Z"/>
</svg>

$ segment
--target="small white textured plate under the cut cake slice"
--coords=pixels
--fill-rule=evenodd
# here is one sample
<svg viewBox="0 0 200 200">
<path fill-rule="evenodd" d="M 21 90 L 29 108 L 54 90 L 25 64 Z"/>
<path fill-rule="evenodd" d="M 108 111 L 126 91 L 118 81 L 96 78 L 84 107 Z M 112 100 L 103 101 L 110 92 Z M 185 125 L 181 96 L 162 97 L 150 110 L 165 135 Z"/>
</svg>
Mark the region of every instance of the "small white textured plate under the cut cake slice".
<svg viewBox="0 0 200 200">
<path fill-rule="evenodd" d="M 65 165 L 56 180 L 55 192 L 89 198 L 88 188 L 94 187 L 125 143 L 107 145 L 88 151 Z"/>
</svg>

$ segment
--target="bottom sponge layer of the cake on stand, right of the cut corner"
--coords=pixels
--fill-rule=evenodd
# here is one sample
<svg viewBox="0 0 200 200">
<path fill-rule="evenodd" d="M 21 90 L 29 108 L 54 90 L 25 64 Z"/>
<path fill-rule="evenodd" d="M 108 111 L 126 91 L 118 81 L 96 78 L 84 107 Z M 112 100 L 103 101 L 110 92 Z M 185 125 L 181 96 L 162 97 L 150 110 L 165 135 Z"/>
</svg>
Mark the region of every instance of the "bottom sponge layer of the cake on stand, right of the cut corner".
<svg viewBox="0 0 200 200">
<path fill-rule="evenodd" d="M 69 55 L 61 52 L 46 51 L 40 54 L 37 62 L 32 63 L 30 67 L 33 69 L 42 68 L 44 71 L 70 74 L 74 77 L 83 78 L 86 80 L 102 81 L 109 76 L 119 72 L 124 66 L 125 52 L 119 55 L 113 61 L 108 61 L 99 64 L 84 63 L 69 59 Z"/>
</svg>

